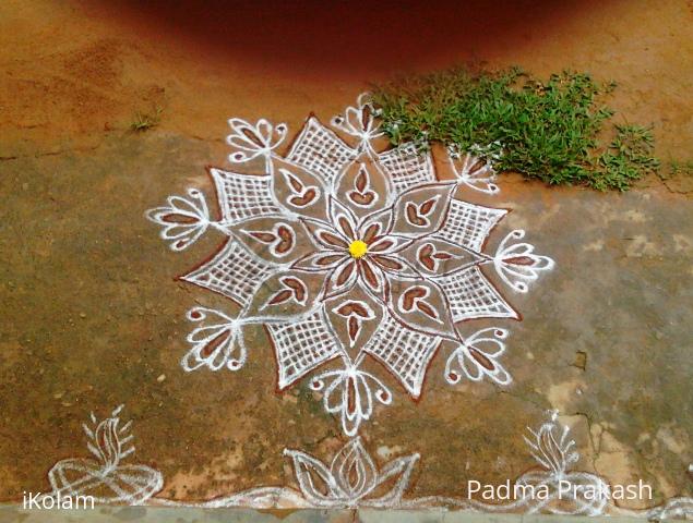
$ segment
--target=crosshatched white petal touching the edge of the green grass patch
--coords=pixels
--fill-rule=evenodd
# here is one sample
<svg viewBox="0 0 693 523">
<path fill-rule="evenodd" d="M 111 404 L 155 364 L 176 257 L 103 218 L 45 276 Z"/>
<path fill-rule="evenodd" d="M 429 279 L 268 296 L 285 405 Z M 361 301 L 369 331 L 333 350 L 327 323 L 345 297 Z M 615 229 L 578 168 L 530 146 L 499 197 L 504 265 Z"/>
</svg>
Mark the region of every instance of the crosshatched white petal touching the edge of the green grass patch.
<svg viewBox="0 0 693 523">
<path fill-rule="evenodd" d="M 435 181 L 430 151 L 421 153 L 414 144 L 381 153 L 378 160 L 392 179 L 397 194 L 415 185 Z"/>
</svg>

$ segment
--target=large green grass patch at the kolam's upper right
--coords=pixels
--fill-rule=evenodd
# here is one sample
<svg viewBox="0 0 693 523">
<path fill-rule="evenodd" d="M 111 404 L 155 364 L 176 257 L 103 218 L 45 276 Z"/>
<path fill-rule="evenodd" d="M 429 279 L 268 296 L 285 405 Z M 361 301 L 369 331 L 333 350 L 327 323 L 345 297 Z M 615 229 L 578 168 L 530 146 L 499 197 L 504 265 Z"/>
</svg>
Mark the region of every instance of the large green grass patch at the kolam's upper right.
<svg viewBox="0 0 693 523">
<path fill-rule="evenodd" d="M 586 73 L 542 82 L 517 68 L 455 69 L 375 86 L 372 100 L 393 145 L 440 142 L 492 158 L 499 171 L 625 191 L 659 161 L 650 127 L 609 122 L 604 99 L 614 87 Z"/>
</svg>

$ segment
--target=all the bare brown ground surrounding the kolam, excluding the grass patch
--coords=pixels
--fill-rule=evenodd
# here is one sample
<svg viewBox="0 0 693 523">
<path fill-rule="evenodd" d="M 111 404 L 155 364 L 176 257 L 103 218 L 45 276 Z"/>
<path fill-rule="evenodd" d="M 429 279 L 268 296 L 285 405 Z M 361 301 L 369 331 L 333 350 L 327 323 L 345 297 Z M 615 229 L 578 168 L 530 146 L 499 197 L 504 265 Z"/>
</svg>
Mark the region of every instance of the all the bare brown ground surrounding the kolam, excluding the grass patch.
<svg viewBox="0 0 693 523">
<path fill-rule="evenodd" d="M 618 83 L 617 121 L 653 123 L 665 169 L 693 160 L 690 1 L 140 3 L 0 2 L 2 501 L 45 491 L 57 460 L 84 455 L 88 412 L 123 402 L 138 462 L 160 470 L 175 499 L 288 484 L 285 446 L 328 457 L 343 443 L 306 387 L 274 393 L 262 332 L 244 376 L 180 369 L 186 311 L 224 301 L 171 277 L 218 238 L 172 256 L 142 215 L 190 184 L 208 188 L 229 117 L 296 132 L 395 74 L 468 61 L 575 69 Z M 155 129 L 130 131 L 155 108 Z M 522 302 L 518 385 L 451 391 L 432 379 L 367 440 L 423 457 L 416 495 L 461 495 L 464 477 L 531 466 L 519 435 L 557 408 L 582 437 L 584 470 L 645 477 L 656 501 L 690 492 L 690 177 L 626 195 L 515 175 L 501 186 L 499 206 L 516 209 L 507 227 L 537 234 L 562 267 Z"/>
</svg>

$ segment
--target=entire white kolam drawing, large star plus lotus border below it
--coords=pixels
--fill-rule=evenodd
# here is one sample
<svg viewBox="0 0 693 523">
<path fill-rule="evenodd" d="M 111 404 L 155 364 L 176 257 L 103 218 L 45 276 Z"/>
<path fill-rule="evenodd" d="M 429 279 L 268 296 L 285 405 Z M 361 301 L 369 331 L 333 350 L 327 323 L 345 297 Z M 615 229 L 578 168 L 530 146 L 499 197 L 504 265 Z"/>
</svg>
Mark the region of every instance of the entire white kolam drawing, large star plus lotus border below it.
<svg viewBox="0 0 693 523">
<path fill-rule="evenodd" d="M 229 160 L 262 165 L 263 172 L 210 169 L 219 219 L 212 218 L 198 188 L 147 211 L 174 251 L 188 248 L 210 228 L 227 236 L 215 254 L 181 278 L 228 297 L 239 312 L 191 308 L 188 318 L 195 327 L 181 366 L 187 372 L 241 370 L 252 357 L 243 331 L 261 325 L 276 357 L 277 388 L 309 379 L 322 392 L 325 410 L 338 416 L 347 441 L 324 461 L 286 448 L 296 487 L 260 486 L 207 501 L 178 501 L 155 497 L 164 486 L 158 471 L 124 463 L 134 447 L 131 423 L 120 423 L 121 405 L 100 422 L 92 414 L 84 431 L 94 458 L 56 463 L 48 474 L 52 490 L 45 496 L 203 508 L 454 507 L 657 520 L 693 514 L 688 497 L 640 510 L 595 497 L 613 487 L 596 474 L 573 470 L 580 455 L 558 412 L 525 436 L 535 466 L 515 478 L 521 490 L 516 499 L 497 503 L 407 496 L 421 457 L 409 453 L 378 463 L 357 435 L 377 403 L 393 402 L 382 376 L 365 370 L 363 362 L 378 362 L 375 368 L 391 373 L 413 399 L 421 394 L 441 345 L 447 346 L 449 384 L 510 384 L 500 361 L 509 331 L 475 331 L 469 321 L 521 319 L 487 272 L 494 272 L 506 290 L 525 293 L 553 260 L 523 242 L 523 230 L 511 231 L 488 253 L 487 240 L 507 209 L 459 195 L 498 193 L 491 163 L 449 149 L 445 160 L 454 178 L 447 180 L 438 175 L 427 144 L 380 147 L 386 141 L 365 95 L 332 119 L 330 127 L 310 117 L 290 145 L 285 124 L 229 123 Z M 330 369 L 321 372 L 328 362 Z M 575 488 L 561 494 L 565 482 Z M 546 495 L 528 495 L 531 490 Z"/>
</svg>

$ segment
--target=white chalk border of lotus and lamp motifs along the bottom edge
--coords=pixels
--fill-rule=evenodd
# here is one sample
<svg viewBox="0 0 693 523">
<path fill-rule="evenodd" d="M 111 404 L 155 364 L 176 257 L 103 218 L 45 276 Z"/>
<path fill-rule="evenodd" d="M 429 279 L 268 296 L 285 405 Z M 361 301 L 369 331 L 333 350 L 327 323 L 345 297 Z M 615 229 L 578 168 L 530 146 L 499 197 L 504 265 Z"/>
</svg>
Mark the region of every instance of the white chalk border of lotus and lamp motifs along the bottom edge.
<svg viewBox="0 0 693 523">
<path fill-rule="evenodd" d="M 92 414 L 92 426 L 84 425 L 87 448 L 95 459 L 73 458 L 59 461 L 48 473 L 52 491 L 45 496 L 94 496 L 107 504 L 148 504 L 168 507 L 253 509 L 296 508 L 382 508 L 457 509 L 470 512 L 547 513 L 571 515 L 629 515 L 648 521 L 693 519 L 693 499 L 676 497 L 641 510 L 625 509 L 611 499 L 612 486 L 604 477 L 580 470 L 575 441 L 559 419 L 558 411 L 547 413 L 538 428 L 523 435 L 535 466 L 515 478 L 516 499 L 489 503 L 467 497 L 407 497 L 411 475 L 423 460 L 418 453 L 398 455 L 379 464 L 360 437 L 349 438 L 328 461 L 296 449 L 285 449 L 294 469 L 295 487 L 251 488 L 210 501 L 177 501 L 160 496 L 162 474 L 146 465 L 123 464 L 134 452 L 129 436 L 131 423 L 120 425 L 122 405 L 99 422 Z M 499 457 L 500 459 L 501 457 Z M 561 490 L 562 482 L 576 488 Z M 533 494 L 542 488 L 545 494 Z M 560 494 L 559 494 L 560 492 Z M 601 496 L 595 496 L 601 492 Z M 158 496 L 157 496 L 158 494 Z"/>
</svg>

